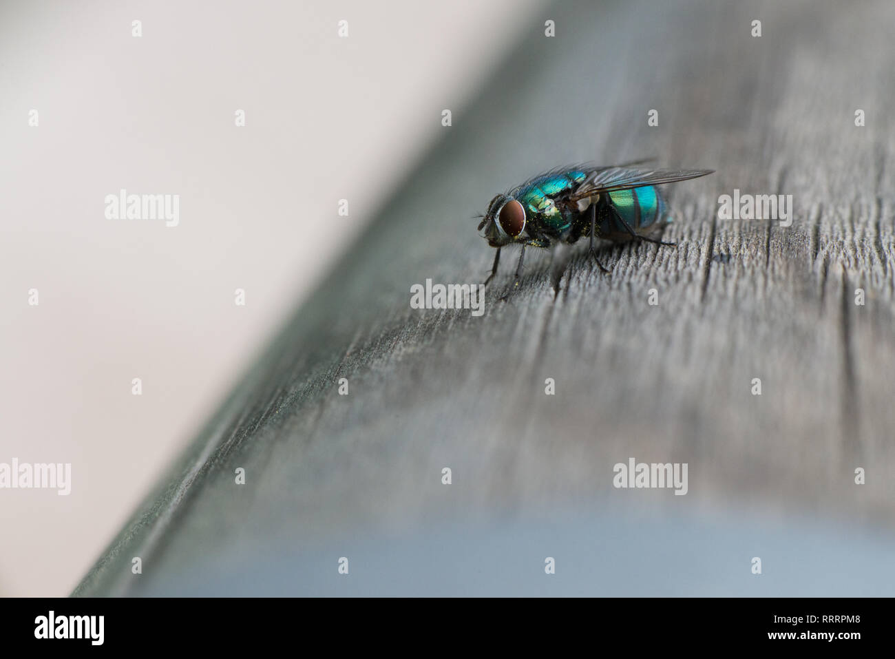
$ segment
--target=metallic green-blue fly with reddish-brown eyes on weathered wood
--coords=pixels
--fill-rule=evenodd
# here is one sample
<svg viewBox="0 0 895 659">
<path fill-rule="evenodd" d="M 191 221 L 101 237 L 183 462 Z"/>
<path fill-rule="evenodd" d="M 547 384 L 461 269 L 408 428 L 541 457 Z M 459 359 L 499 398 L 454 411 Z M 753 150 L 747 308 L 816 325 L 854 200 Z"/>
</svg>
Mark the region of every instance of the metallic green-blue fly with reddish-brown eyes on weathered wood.
<svg viewBox="0 0 895 659">
<path fill-rule="evenodd" d="M 497 274 L 500 250 L 507 244 L 522 245 L 516 286 L 528 246 L 574 244 L 586 235 L 591 257 L 603 272 L 609 270 L 597 259 L 593 244 L 596 238 L 674 246 L 657 237 L 671 218 L 655 186 L 712 174 L 714 170 L 638 167 L 643 164 L 641 160 L 612 167 L 558 167 L 495 196 L 479 224 L 479 230 L 485 230 L 482 237 L 491 247 L 497 247 L 485 284 Z M 557 290 L 558 284 L 556 278 Z"/>
</svg>

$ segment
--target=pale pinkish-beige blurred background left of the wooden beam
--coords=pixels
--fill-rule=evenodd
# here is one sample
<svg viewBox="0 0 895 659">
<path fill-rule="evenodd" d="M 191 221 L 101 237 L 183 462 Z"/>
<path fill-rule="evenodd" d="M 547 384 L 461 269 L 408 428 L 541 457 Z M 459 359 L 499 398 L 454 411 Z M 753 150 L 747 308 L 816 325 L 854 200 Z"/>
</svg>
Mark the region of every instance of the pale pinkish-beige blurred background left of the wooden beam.
<svg viewBox="0 0 895 659">
<path fill-rule="evenodd" d="M 0 6 L 0 462 L 72 464 L 0 490 L 0 595 L 71 592 L 540 5 Z"/>
</svg>

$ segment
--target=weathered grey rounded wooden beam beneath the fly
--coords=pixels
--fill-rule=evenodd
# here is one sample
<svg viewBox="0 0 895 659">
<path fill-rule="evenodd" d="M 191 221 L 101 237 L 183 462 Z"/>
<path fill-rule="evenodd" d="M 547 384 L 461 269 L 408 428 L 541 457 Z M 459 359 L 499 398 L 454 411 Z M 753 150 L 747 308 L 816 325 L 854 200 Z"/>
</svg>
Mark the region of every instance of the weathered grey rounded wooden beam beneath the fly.
<svg viewBox="0 0 895 659">
<path fill-rule="evenodd" d="M 563 593 L 892 595 L 855 570 L 895 546 L 893 19 L 886 2 L 545 9 L 76 595 L 540 593 L 555 554 L 576 557 Z M 579 245 L 556 299 L 550 253 L 529 250 L 501 302 L 505 250 L 481 318 L 410 308 L 426 278 L 484 280 L 469 218 L 495 193 L 644 156 L 717 170 L 666 188 L 677 249 L 609 246 L 606 276 Z M 719 219 L 735 188 L 792 194 L 792 226 Z M 689 492 L 613 488 L 631 457 L 686 462 Z M 776 566 L 761 586 L 755 555 Z M 612 582 L 607 556 L 641 579 Z M 797 571 L 811 561 L 838 576 Z"/>
</svg>

